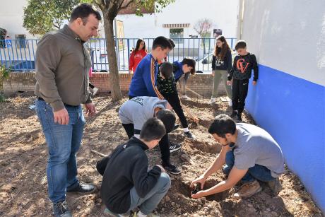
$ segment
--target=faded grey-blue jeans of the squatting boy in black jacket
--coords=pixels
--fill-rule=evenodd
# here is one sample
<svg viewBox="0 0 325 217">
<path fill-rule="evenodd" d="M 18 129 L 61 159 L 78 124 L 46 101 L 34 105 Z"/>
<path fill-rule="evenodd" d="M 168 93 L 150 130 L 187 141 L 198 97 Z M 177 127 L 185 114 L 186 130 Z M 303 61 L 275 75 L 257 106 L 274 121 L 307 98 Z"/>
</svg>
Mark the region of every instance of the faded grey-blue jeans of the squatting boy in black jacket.
<svg viewBox="0 0 325 217">
<path fill-rule="evenodd" d="M 159 202 L 170 189 L 170 177 L 167 173 L 162 172 L 157 184 L 151 189 L 146 197 L 141 198 L 136 193 L 136 188 L 133 187 L 130 191 L 131 205 L 129 211 L 139 206 L 143 214 L 150 214 L 158 206 Z"/>
</svg>

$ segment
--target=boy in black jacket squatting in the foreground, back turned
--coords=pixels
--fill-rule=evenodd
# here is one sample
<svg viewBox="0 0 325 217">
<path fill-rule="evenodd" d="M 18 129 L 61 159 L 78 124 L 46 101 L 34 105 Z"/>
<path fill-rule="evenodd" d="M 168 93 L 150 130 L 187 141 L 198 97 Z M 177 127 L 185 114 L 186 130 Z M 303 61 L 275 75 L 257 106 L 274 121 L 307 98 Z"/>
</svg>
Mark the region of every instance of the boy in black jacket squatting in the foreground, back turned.
<svg viewBox="0 0 325 217">
<path fill-rule="evenodd" d="M 162 121 L 152 117 L 143 124 L 139 139 L 133 136 L 97 163 L 103 175 L 100 194 L 107 207 L 105 212 L 129 216 L 139 207 L 138 216 L 142 217 L 156 208 L 170 189 L 170 177 L 160 165 L 148 170 L 145 151 L 157 146 L 165 134 Z"/>
</svg>

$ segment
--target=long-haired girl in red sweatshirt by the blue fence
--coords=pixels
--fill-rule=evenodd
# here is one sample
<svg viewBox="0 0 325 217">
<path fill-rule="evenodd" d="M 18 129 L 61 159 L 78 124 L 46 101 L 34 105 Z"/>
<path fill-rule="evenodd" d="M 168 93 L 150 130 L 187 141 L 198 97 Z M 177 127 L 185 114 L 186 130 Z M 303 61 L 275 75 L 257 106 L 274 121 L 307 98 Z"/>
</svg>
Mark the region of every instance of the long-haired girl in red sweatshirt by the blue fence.
<svg viewBox="0 0 325 217">
<path fill-rule="evenodd" d="M 131 52 L 130 61 L 129 61 L 129 74 L 132 72 L 136 72 L 136 66 L 138 66 L 138 63 L 143 59 L 143 57 L 146 57 L 148 54 L 146 49 L 146 42 L 142 39 L 138 39 L 136 42 L 136 49 L 134 49 Z"/>
</svg>

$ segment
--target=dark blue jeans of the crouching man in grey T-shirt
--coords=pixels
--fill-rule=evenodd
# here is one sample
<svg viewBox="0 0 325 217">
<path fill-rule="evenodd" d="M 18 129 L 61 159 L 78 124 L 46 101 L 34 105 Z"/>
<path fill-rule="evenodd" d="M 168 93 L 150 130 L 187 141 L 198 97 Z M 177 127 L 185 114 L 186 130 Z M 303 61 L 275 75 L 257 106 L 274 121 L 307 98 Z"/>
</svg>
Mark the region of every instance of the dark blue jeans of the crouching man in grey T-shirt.
<svg viewBox="0 0 325 217">
<path fill-rule="evenodd" d="M 230 170 L 234 166 L 235 156 L 234 151 L 228 151 L 225 156 L 225 166 L 223 167 L 223 172 L 225 175 L 229 175 Z M 249 168 L 247 173 L 242 177 L 242 182 L 253 182 L 254 180 L 259 180 L 262 182 L 268 182 L 274 180 L 275 178 L 271 176 L 271 170 L 262 166 L 262 165 L 254 165 L 254 167 Z"/>
</svg>

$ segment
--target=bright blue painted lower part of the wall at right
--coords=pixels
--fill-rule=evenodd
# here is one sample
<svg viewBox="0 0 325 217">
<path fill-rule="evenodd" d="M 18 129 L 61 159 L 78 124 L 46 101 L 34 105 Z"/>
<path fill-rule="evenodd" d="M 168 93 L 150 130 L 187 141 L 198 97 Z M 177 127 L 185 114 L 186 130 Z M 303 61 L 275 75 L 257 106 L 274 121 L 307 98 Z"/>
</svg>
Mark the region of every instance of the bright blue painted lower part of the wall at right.
<svg viewBox="0 0 325 217">
<path fill-rule="evenodd" d="M 288 167 L 325 213 L 325 87 L 259 65 L 246 110 L 276 139 Z"/>
</svg>

